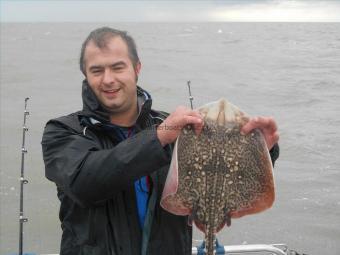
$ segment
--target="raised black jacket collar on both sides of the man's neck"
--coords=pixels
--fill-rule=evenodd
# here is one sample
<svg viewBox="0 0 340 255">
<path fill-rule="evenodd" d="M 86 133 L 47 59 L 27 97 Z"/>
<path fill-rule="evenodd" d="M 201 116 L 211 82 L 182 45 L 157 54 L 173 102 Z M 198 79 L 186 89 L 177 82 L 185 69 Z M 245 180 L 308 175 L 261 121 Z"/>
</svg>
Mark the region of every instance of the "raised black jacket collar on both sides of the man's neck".
<svg viewBox="0 0 340 255">
<path fill-rule="evenodd" d="M 103 105 L 98 101 L 96 95 L 89 86 L 87 80 L 82 85 L 83 111 L 82 116 L 91 117 L 102 123 L 110 123 L 110 114 Z M 137 104 L 138 119 L 137 122 L 143 121 L 151 110 L 152 99 L 150 94 L 137 86 Z"/>
</svg>

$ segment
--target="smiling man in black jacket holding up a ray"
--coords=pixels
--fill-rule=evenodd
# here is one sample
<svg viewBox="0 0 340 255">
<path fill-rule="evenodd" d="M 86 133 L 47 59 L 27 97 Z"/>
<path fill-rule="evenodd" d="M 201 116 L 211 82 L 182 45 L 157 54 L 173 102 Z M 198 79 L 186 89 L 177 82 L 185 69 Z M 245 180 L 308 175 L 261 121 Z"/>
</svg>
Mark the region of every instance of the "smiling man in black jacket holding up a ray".
<svg viewBox="0 0 340 255">
<path fill-rule="evenodd" d="M 137 86 L 141 63 L 126 32 L 92 31 L 80 69 L 83 110 L 50 120 L 42 138 L 46 177 L 61 201 L 60 254 L 191 254 L 187 217 L 164 211 L 159 201 L 171 143 L 188 124 L 199 134 L 202 117 L 185 107 L 169 116 L 151 109 L 151 96 Z M 273 119 L 253 119 L 243 131 L 253 128 L 268 148 L 277 143 Z"/>
</svg>

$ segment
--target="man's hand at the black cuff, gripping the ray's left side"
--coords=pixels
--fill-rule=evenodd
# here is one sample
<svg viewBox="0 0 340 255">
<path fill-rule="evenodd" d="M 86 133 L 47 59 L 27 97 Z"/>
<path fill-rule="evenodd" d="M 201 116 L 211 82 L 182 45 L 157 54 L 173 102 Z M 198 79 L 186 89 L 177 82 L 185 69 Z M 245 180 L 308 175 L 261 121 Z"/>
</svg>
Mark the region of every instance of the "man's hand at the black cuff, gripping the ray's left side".
<svg viewBox="0 0 340 255">
<path fill-rule="evenodd" d="M 182 128 L 190 124 L 194 127 L 196 135 L 199 135 L 203 128 L 202 116 L 197 111 L 179 106 L 157 128 L 157 136 L 162 146 L 174 142 Z"/>
</svg>

